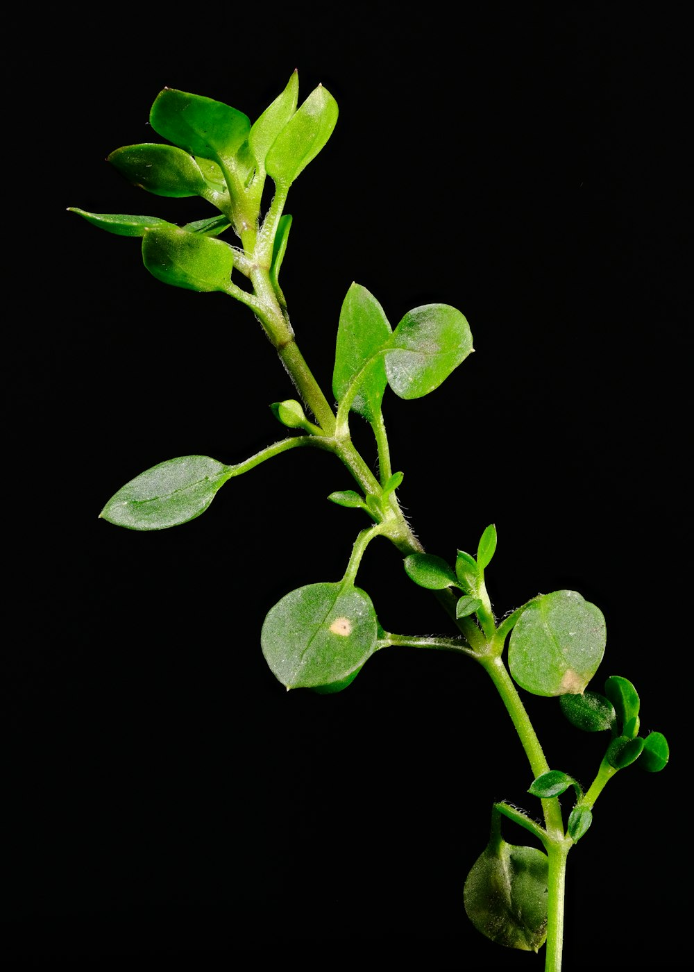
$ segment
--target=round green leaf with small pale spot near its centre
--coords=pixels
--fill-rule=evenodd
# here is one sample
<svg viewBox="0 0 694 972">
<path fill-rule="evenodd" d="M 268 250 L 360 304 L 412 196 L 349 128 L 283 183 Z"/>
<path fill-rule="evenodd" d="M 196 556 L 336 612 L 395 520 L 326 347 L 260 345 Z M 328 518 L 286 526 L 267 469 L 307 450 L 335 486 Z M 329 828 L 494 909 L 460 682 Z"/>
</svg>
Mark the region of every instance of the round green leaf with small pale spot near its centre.
<svg viewBox="0 0 694 972">
<path fill-rule="evenodd" d="M 367 594 L 343 583 L 299 587 L 272 608 L 260 643 L 287 688 L 334 685 L 378 648 L 376 612 Z"/>
</svg>

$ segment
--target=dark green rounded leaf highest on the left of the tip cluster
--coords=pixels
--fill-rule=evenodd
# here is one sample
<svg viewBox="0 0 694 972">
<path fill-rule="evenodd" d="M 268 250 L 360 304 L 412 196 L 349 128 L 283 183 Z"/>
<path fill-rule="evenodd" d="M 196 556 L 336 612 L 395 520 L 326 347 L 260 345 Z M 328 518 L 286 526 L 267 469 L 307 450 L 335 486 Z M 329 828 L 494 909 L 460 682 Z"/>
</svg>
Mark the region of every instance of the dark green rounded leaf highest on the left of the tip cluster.
<svg viewBox="0 0 694 972">
<path fill-rule="evenodd" d="M 165 87 L 150 112 L 152 127 L 191 156 L 231 164 L 248 138 L 251 121 L 222 101 Z"/>
</svg>

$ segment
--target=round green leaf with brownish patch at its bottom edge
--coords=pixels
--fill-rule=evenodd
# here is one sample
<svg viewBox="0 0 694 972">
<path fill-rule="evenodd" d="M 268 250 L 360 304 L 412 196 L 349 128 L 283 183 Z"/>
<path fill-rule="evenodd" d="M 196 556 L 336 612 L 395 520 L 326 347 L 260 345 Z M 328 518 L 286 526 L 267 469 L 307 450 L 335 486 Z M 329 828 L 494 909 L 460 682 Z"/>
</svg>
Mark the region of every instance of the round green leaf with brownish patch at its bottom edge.
<svg viewBox="0 0 694 972">
<path fill-rule="evenodd" d="M 538 597 L 511 633 L 510 673 L 533 695 L 580 693 L 603 660 L 605 629 L 600 608 L 575 591 Z"/>
</svg>

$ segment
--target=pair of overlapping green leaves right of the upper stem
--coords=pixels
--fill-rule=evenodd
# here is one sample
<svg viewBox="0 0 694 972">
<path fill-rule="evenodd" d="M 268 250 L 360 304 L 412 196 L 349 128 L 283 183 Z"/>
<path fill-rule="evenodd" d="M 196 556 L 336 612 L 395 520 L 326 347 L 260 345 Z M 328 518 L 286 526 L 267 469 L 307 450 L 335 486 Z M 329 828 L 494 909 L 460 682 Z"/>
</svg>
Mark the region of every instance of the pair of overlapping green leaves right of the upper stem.
<svg viewBox="0 0 694 972">
<path fill-rule="evenodd" d="M 332 391 L 373 422 L 386 385 L 400 399 L 433 392 L 472 351 L 466 318 L 448 304 L 408 311 L 395 330 L 365 287 L 352 284 L 342 303 Z"/>
</svg>

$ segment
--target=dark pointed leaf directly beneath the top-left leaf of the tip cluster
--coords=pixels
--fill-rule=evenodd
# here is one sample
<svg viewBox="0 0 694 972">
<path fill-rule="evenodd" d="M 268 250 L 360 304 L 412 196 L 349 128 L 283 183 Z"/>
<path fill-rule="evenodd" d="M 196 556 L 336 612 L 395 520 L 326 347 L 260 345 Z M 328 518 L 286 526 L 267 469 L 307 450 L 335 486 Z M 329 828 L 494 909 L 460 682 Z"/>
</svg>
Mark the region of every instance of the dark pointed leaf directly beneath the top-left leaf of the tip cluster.
<svg viewBox="0 0 694 972">
<path fill-rule="evenodd" d="M 207 182 L 194 158 L 172 145 L 126 145 L 107 159 L 128 182 L 155 195 L 204 195 Z"/>
</svg>

